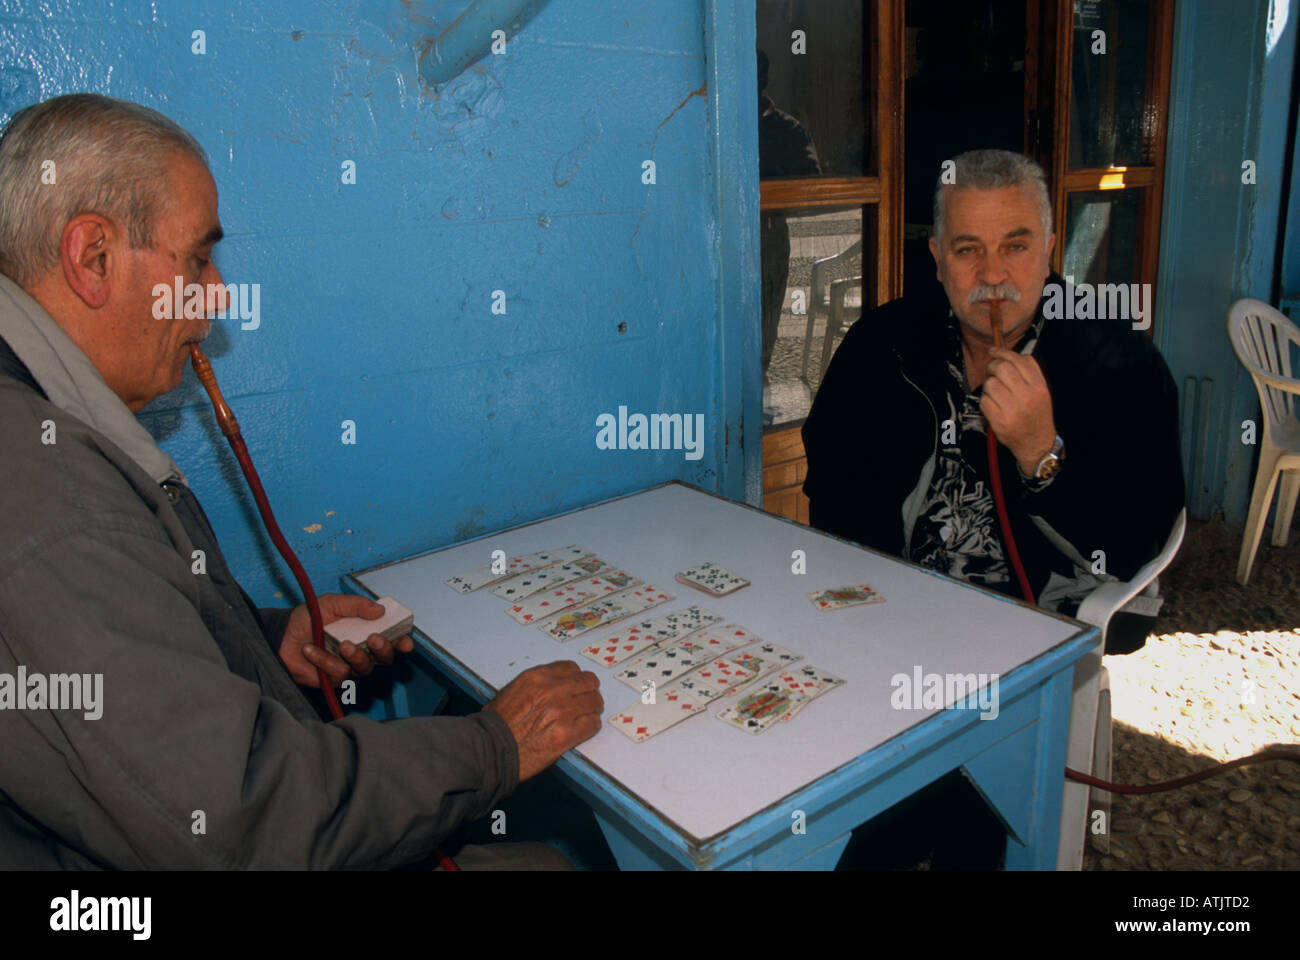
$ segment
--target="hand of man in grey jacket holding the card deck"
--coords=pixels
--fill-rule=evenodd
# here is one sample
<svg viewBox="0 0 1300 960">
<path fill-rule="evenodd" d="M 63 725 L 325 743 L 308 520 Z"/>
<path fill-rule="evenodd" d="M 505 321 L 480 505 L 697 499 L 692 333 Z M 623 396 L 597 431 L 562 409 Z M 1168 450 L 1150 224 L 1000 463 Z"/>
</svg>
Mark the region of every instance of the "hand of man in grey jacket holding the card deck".
<svg viewBox="0 0 1300 960">
<path fill-rule="evenodd" d="M 334 623 L 347 617 L 361 617 L 376 620 L 384 615 L 384 607 L 373 600 L 355 593 L 322 593 L 320 597 L 321 620 Z M 303 687 L 320 687 L 317 667 L 325 671 L 332 686 L 338 687 L 351 676 L 369 676 L 376 663 L 391 666 L 399 653 L 411 653 L 415 640 L 411 635 L 399 636 L 393 643 L 378 633 L 370 633 L 367 645 L 358 647 L 347 640 L 338 645 L 339 656 L 320 649 L 312 644 L 312 615 L 306 604 L 299 604 L 289 615 L 285 637 L 280 643 L 280 658 L 285 661 L 290 675 Z M 369 650 L 369 652 L 367 652 Z"/>
</svg>

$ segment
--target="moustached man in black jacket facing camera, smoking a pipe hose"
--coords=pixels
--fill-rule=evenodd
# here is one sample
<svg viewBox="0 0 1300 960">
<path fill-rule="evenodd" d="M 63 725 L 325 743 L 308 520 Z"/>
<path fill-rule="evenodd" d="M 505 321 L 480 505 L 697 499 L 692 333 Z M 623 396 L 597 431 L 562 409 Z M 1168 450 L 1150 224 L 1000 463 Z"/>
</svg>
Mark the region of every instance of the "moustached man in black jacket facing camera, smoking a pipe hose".
<svg viewBox="0 0 1300 960">
<path fill-rule="evenodd" d="M 987 424 L 1024 579 L 1040 606 L 1072 614 L 1102 579 L 1152 559 L 1183 507 L 1178 393 L 1135 317 L 1050 308 L 1072 291 L 1050 272 L 1037 164 L 979 150 L 946 174 L 930 241 L 941 287 L 854 324 L 803 424 L 811 522 L 1022 597 Z"/>
</svg>

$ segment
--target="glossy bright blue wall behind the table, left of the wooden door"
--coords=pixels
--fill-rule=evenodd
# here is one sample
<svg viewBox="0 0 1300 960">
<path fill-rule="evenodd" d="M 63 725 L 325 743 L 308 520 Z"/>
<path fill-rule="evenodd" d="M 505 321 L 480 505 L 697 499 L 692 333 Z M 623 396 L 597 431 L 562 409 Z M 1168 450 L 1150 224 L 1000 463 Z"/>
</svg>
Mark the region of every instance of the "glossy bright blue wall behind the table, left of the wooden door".
<svg viewBox="0 0 1300 960">
<path fill-rule="evenodd" d="M 217 265 L 261 286 L 209 356 L 317 589 L 664 480 L 758 488 L 753 0 L 550 0 L 430 90 L 417 47 L 465 7 L 0 3 L 4 118 L 90 90 L 209 152 Z M 598 450 L 619 406 L 703 414 L 703 457 Z M 192 373 L 142 419 L 250 593 L 296 597 Z"/>
</svg>

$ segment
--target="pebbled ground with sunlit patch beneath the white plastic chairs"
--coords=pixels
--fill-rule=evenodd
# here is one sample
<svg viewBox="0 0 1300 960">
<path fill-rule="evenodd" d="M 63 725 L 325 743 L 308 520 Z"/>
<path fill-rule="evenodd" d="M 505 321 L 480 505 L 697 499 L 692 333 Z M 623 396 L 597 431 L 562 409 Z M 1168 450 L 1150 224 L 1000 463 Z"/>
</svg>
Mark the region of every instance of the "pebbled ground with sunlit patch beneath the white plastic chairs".
<svg viewBox="0 0 1300 960">
<path fill-rule="evenodd" d="M 1153 783 L 1300 743 L 1300 531 L 1236 583 L 1239 531 L 1190 524 L 1161 576 L 1165 607 L 1138 653 L 1106 657 L 1117 783 Z M 1086 870 L 1297 870 L 1300 764 L 1238 767 L 1191 787 L 1115 796 Z"/>
</svg>

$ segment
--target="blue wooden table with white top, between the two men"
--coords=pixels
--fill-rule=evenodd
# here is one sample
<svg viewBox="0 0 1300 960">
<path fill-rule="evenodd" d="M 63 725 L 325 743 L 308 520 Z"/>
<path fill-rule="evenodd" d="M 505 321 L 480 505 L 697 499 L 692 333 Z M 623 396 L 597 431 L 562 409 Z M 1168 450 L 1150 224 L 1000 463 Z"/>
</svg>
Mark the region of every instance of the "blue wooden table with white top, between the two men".
<svg viewBox="0 0 1300 960">
<path fill-rule="evenodd" d="M 495 549 L 566 544 L 671 589 L 675 601 L 646 617 L 698 604 L 848 680 L 759 736 L 693 717 L 634 744 L 606 723 L 562 757 L 558 771 L 623 869 L 832 869 L 855 826 L 958 767 L 1006 823 L 1008 869 L 1056 865 L 1074 663 L 1097 643 L 1087 624 L 676 483 L 344 583 L 411 607 L 419 649 L 474 700 L 529 666 L 572 658 L 601 676 L 608 718 L 637 693 L 578 657 L 581 644 L 515 623 L 486 589 L 460 596 L 442 583 Z M 705 559 L 751 585 L 712 598 L 675 583 L 675 571 Z M 793 572 L 801 562 L 807 572 Z M 875 585 L 885 602 L 820 611 L 806 598 L 853 583 Z M 982 718 L 974 695 L 901 709 L 894 684 L 914 671 L 997 675 L 996 717 Z"/>
</svg>

